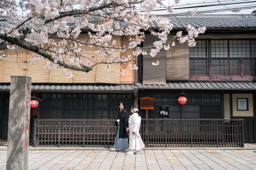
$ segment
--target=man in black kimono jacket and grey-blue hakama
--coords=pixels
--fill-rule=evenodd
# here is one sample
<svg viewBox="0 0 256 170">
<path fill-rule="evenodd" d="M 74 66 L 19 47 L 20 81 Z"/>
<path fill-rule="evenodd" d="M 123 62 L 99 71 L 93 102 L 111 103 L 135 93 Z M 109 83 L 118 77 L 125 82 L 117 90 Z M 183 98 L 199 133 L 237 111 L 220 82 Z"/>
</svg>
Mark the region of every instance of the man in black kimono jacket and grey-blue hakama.
<svg viewBox="0 0 256 170">
<path fill-rule="evenodd" d="M 118 104 L 120 111 L 116 120 L 116 139 L 114 148 L 110 149 L 111 151 L 117 151 L 120 149 L 120 152 L 127 152 L 128 149 L 128 114 L 124 109 L 124 103 L 120 102 Z"/>
</svg>

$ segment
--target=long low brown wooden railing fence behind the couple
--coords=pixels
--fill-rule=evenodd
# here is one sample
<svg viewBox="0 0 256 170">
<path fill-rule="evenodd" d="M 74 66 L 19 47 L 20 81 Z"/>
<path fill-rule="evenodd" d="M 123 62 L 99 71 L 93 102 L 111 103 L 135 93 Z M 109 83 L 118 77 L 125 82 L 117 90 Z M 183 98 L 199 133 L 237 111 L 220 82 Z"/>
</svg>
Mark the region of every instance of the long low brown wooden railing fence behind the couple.
<svg viewBox="0 0 256 170">
<path fill-rule="evenodd" d="M 37 144 L 114 144 L 116 120 L 33 119 Z M 142 119 L 140 135 L 148 147 L 244 147 L 243 119 Z"/>
</svg>

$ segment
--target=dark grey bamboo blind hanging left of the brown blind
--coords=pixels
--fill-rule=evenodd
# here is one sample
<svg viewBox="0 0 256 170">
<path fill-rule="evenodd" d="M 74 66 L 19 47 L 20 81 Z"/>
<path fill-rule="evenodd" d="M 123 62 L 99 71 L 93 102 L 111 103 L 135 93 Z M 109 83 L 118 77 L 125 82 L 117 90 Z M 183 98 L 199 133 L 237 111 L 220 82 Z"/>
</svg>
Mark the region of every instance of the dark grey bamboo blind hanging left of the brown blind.
<svg viewBox="0 0 256 170">
<path fill-rule="evenodd" d="M 155 36 L 147 36 L 143 46 L 152 45 L 153 42 L 159 41 Z M 161 49 L 155 57 L 149 55 L 150 48 L 147 48 L 147 55 L 143 55 L 143 84 L 166 84 L 166 50 Z M 159 65 L 152 65 L 153 62 L 159 61 Z"/>
</svg>

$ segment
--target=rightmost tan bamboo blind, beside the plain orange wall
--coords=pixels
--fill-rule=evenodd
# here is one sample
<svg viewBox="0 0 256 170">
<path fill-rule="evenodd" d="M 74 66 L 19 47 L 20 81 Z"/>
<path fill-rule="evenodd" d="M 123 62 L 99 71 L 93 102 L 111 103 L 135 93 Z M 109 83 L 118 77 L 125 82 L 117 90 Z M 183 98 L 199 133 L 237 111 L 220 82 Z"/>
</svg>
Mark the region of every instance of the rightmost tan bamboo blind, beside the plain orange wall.
<svg viewBox="0 0 256 170">
<path fill-rule="evenodd" d="M 112 40 L 116 41 L 116 47 L 121 46 L 120 36 L 112 35 Z M 120 57 L 120 52 L 114 51 Z M 97 63 L 103 61 L 103 57 L 97 57 Z M 106 71 L 106 64 L 98 64 L 96 68 L 96 83 L 110 83 L 110 84 L 119 84 L 120 80 L 120 64 L 114 63 L 110 64 L 110 70 Z"/>
</svg>

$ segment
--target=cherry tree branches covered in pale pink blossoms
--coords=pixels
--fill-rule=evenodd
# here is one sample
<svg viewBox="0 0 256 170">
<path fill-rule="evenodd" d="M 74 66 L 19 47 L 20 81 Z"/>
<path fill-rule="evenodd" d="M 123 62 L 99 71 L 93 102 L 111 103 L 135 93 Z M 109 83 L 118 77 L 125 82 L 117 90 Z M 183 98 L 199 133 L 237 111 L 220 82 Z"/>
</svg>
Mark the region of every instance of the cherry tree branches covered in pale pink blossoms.
<svg viewBox="0 0 256 170">
<path fill-rule="evenodd" d="M 23 48 L 34 53 L 24 63 L 31 65 L 47 59 L 45 70 L 61 69 L 67 78 L 73 77 L 72 70 L 89 72 L 99 63 L 106 64 L 106 71 L 110 70 L 111 63 L 129 63 L 131 69 L 137 70 L 137 63 L 132 64 L 132 61 L 138 55 L 155 57 L 163 48 L 170 50 L 172 47 L 169 43 L 175 46 L 174 41 L 168 41 L 168 34 L 173 28 L 171 19 L 151 14 L 156 4 L 164 1 L 30 0 L 10 3 L 3 0 L 0 17 L 6 18 L 6 25 L 0 26 L 0 47 L 4 49 L 0 52 L 0 61 L 15 57 L 9 56 L 8 50 Z M 179 2 L 174 0 L 175 4 Z M 146 12 L 141 13 L 139 8 Z M 172 14 L 173 6 L 166 7 L 166 11 Z M 189 13 L 194 15 L 196 10 Z M 158 30 L 152 30 L 149 22 L 157 23 Z M 188 41 L 190 47 L 196 45 L 194 38 L 205 31 L 205 27 L 188 25 L 184 28 L 188 35 L 184 36 L 179 31 L 173 38 L 180 43 Z M 82 34 L 84 30 L 86 33 Z M 145 32 L 151 33 L 157 40 L 148 47 L 141 47 L 146 38 Z M 86 38 L 81 40 L 80 37 L 85 34 Z M 128 47 L 120 46 L 120 42 L 114 38 L 116 36 L 126 38 Z M 90 50 L 95 50 L 95 53 L 88 55 Z M 127 55 L 126 50 L 132 52 L 135 58 Z M 97 63 L 94 57 L 97 57 Z M 159 61 L 152 64 L 159 65 Z M 120 70 L 120 74 L 128 75 L 124 70 Z"/>
</svg>

